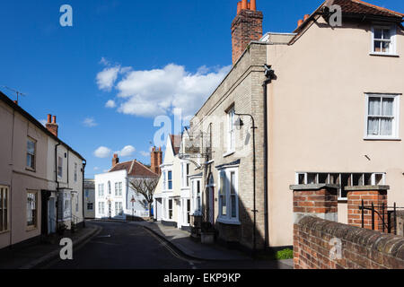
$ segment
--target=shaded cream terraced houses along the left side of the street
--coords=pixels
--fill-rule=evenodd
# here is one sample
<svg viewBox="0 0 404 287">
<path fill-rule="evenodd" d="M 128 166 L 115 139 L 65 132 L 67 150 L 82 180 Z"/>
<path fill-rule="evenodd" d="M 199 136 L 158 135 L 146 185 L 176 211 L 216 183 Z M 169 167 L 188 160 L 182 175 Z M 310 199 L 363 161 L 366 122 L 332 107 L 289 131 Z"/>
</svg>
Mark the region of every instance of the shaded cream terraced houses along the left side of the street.
<svg viewBox="0 0 404 287">
<path fill-rule="evenodd" d="M 0 249 L 83 224 L 85 160 L 0 92 Z"/>
</svg>

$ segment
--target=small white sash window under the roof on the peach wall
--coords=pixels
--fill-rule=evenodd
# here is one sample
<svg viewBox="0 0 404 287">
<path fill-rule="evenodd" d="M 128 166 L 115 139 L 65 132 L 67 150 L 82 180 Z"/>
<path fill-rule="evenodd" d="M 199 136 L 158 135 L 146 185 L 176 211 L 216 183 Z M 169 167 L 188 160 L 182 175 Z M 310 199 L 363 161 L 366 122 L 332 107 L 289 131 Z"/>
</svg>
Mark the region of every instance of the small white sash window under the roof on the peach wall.
<svg viewBox="0 0 404 287">
<path fill-rule="evenodd" d="M 393 25 L 373 26 L 372 54 L 396 55 L 396 30 Z"/>
</svg>

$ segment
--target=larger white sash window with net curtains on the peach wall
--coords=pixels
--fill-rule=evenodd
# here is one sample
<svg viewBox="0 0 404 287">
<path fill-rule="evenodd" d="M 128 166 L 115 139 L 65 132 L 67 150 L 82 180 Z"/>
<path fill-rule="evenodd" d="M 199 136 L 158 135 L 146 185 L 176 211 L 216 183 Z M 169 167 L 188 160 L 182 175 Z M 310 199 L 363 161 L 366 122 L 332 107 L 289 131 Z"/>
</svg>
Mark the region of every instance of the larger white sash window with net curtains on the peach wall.
<svg viewBox="0 0 404 287">
<path fill-rule="evenodd" d="M 399 96 L 366 95 L 366 138 L 397 138 L 399 132 Z"/>
</svg>

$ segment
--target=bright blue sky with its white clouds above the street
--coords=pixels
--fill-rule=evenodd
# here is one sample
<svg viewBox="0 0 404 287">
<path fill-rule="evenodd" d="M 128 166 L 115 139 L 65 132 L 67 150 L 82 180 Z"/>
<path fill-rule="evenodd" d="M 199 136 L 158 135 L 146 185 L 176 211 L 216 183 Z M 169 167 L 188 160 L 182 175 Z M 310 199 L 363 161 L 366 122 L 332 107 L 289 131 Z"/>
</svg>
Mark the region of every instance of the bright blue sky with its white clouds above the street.
<svg viewBox="0 0 404 287">
<path fill-rule="evenodd" d="M 399 0 L 371 2 L 404 11 Z M 59 25 L 62 4 L 73 7 L 73 27 Z M 320 4 L 257 1 L 264 32 L 290 32 Z M 148 163 L 145 152 L 159 129 L 154 117 L 171 116 L 173 108 L 192 114 L 230 68 L 236 5 L 237 0 L 2 1 L 0 86 L 27 93 L 20 104 L 32 116 L 57 116 L 59 137 L 87 159 L 87 177 L 110 168 L 111 152 L 121 151 L 121 161 Z M 108 157 L 94 154 L 100 147 L 107 149 L 98 155 Z"/>
</svg>

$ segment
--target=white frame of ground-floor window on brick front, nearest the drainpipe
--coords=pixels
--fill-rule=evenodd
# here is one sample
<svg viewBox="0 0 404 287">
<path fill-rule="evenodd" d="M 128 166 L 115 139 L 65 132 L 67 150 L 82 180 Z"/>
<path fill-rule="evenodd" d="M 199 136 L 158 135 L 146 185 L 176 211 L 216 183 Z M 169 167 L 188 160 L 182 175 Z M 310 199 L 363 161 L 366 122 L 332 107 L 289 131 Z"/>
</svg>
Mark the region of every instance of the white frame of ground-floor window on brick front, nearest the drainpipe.
<svg viewBox="0 0 404 287">
<path fill-rule="evenodd" d="M 234 172 L 234 191 L 235 191 L 235 206 L 236 206 L 236 216 L 232 217 L 232 200 L 231 200 L 231 174 Z M 224 185 L 225 188 L 225 197 L 226 197 L 226 214 L 223 215 L 222 213 L 222 178 L 221 176 L 224 175 L 224 180 L 227 184 Z M 217 188 L 218 197 L 219 197 L 219 206 L 218 206 L 218 217 L 217 221 L 222 222 L 225 224 L 236 224 L 240 225 L 240 207 L 239 207 L 239 169 L 238 168 L 227 168 L 224 170 L 219 170 L 219 187 Z"/>
</svg>

